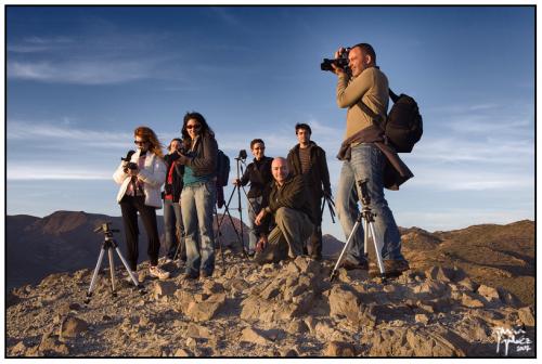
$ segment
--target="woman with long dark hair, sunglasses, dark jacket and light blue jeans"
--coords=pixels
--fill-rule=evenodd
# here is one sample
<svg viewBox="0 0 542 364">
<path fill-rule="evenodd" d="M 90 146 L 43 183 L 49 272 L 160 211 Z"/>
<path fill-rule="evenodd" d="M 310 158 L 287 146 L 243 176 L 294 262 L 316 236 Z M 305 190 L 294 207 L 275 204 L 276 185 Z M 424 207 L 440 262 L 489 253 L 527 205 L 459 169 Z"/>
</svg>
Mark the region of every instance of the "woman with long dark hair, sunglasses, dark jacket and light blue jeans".
<svg viewBox="0 0 542 364">
<path fill-rule="evenodd" d="M 186 245 L 184 277 L 208 277 L 215 271 L 212 211 L 216 204 L 218 144 L 215 133 L 199 113 L 186 113 L 182 126 L 185 153 L 181 212 Z"/>
</svg>

